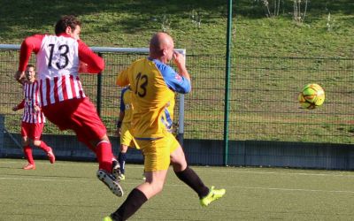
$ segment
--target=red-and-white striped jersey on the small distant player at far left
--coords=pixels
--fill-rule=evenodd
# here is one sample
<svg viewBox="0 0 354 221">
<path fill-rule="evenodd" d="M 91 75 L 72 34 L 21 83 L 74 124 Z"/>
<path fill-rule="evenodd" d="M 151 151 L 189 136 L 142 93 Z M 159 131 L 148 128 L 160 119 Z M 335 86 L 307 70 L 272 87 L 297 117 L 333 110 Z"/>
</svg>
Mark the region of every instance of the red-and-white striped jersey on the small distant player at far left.
<svg viewBox="0 0 354 221">
<path fill-rule="evenodd" d="M 22 121 L 31 124 L 45 123 L 42 110 L 35 110 L 35 105 L 40 106 L 41 102 L 38 81 L 35 80 L 33 83 L 25 82 L 23 85 L 23 94 L 25 98 L 17 106 L 18 109 L 23 108 Z"/>
</svg>

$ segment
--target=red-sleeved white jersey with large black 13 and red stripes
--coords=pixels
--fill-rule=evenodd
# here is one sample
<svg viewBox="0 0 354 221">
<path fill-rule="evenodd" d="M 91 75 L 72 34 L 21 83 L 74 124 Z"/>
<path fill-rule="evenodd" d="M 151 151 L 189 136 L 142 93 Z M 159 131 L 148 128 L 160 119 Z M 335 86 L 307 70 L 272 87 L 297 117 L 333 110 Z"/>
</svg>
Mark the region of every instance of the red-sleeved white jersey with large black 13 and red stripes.
<svg viewBox="0 0 354 221">
<path fill-rule="evenodd" d="M 86 96 L 79 79 L 81 61 L 88 65 L 88 72 L 104 69 L 101 57 L 89 50 L 84 42 L 67 34 L 27 37 L 21 44 L 19 71 L 25 70 L 32 51 L 36 54 L 41 106 Z"/>
</svg>

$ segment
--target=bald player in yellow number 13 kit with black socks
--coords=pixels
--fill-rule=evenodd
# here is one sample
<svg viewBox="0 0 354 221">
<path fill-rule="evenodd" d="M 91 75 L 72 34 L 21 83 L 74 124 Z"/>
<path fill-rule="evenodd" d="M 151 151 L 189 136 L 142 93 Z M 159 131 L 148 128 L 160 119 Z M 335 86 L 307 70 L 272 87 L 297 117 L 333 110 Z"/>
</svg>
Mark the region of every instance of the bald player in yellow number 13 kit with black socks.
<svg viewBox="0 0 354 221">
<path fill-rule="evenodd" d="M 178 68 L 166 65 L 173 60 Z M 130 87 L 133 92 L 133 118 L 131 133 L 142 149 L 146 180 L 130 192 L 123 204 L 104 220 L 126 220 L 144 202 L 161 192 L 170 164 L 181 181 L 198 194 L 202 206 L 222 197 L 225 189 L 208 188 L 187 164 L 180 143 L 165 124 L 166 116 L 173 116 L 174 93 L 189 93 L 189 72 L 185 57 L 174 51 L 173 39 L 165 33 L 154 34 L 150 40 L 149 57 L 139 59 L 117 77 L 119 86 Z M 170 118 L 172 120 L 172 118 Z"/>
</svg>

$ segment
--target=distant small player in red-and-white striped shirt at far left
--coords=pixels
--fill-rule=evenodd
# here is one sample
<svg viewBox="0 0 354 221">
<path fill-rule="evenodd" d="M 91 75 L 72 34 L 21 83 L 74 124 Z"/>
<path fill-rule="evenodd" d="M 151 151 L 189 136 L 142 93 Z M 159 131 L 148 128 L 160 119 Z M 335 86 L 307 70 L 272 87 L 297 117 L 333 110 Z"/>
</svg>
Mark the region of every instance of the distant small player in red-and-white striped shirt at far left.
<svg viewBox="0 0 354 221">
<path fill-rule="evenodd" d="M 27 65 L 26 67 L 26 80 L 22 81 L 24 99 L 21 103 L 12 108 L 13 111 L 20 109 L 23 110 L 22 123 L 21 123 L 21 136 L 22 146 L 28 164 L 26 164 L 24 170 L 35 170 L 35 160 L 32 155 L 32 149 L 30 144 L 37 148 L 44 150 L 50 159 L 50 164 L 54 164 L 55 156 L 53 150 L 48 145 L 41 141 L 42 130 L 45 123 L 45 117 L 39 107 L 40 95 L 39 84 L 35 80 L 35 66 Z"/>
</svg>

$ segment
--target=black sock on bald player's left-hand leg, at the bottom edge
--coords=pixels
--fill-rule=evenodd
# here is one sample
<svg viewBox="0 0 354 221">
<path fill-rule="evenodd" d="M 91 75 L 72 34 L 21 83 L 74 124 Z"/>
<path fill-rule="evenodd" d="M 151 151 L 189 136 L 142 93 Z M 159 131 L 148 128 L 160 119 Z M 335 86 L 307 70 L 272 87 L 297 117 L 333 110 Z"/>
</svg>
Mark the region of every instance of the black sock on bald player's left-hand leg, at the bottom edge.
<svg viewBox="0 0 354 221">
<path fill-rule="evenodd" d="M 127 200 L 121 204 L 119 209 L 112 213 L 111 217 L 113 220 L 127 220 L 128 217 L 131 217 L 144 202 L 147 202 L 145 194 L 142 193 L 139 189 L 135 188 L 127 195 Z"/>
</svg>

